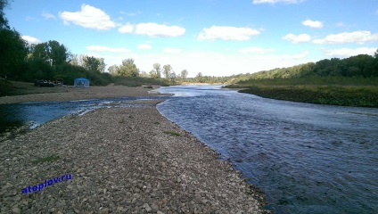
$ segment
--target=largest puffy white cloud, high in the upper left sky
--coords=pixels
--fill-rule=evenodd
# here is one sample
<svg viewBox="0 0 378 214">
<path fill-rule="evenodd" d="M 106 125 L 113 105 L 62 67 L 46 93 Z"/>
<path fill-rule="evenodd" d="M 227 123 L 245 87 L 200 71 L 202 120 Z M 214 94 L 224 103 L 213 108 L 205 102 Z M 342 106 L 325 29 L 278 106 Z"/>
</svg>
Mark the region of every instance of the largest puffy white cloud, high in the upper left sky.
<svg viewBox="0 0 378 214">
<path fill-rule="evenodd" d="M 107 30 L 116 27 L 109 15 L 87 4 L 82 4 L 79 12 L 61 12 L 60 16 L 64 24 L 72 22 L 86 29 Z"/>
</svg>

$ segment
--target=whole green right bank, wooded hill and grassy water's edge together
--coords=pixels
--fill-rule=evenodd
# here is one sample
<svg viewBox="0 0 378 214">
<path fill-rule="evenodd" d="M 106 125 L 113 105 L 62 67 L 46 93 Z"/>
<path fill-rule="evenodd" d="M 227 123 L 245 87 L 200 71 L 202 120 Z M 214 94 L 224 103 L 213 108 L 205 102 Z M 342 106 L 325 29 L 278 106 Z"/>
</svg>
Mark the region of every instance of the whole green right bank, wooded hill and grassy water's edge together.
<svg viewBox="0 0 378 214">
<path fill-rule="evenodd" d="M 227 87 L 261 97 L 302 103 L 378 107 L 378 50 L 289 68 L 242 74 Z"/>
</svg>

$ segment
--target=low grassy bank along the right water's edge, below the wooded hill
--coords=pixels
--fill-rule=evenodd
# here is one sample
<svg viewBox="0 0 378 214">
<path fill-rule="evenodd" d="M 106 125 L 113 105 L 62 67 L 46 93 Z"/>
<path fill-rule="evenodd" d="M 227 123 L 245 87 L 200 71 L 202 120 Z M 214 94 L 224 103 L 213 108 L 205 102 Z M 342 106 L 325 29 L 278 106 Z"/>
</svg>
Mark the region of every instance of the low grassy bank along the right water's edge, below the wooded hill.
<svg viewBox="0 0 378 214">
<path fill-rule="evenodd" d="M 378 86 L 248 86 L 239 92 L 302 103 L 378 107 Z"/>
</svg>

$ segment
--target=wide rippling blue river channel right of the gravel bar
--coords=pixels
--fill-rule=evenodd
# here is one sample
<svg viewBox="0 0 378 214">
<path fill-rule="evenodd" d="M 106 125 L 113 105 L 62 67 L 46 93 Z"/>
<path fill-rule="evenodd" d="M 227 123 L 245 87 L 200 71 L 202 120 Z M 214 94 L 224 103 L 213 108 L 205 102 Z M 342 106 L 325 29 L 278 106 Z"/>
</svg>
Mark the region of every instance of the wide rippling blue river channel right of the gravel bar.
<svg viewBox="0 0 378 214">
<path fill-rule="evenodd" d="M 169 86 L 159 111 L 230 158 L 276 213 L 377 213 L 378 109 Z"/>
</svg>

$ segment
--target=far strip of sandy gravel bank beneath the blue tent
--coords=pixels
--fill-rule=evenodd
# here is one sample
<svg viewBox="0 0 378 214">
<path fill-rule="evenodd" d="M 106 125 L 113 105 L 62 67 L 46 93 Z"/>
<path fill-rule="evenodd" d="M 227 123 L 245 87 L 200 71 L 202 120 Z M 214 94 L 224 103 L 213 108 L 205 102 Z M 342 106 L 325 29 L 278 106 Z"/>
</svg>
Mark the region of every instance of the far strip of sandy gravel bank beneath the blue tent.
<svg viewBox="0 0 378 214">
<path fill-rule="evenodd" d="M 158 86 L 154 86 L 157 88 Z M 86 99 L 101 99 L 123 96 L 149 96 L 152 88 L 127 87 L 127 86 L 91 86 L 82 87 L 33 87 L 30 86 L 31 95 L 14 95 L 0 97 L 0 104 L 5 103 L 27 103 L 27 102 L 54 102 L 54 101 L 73 101 Z"/>
</svg>

